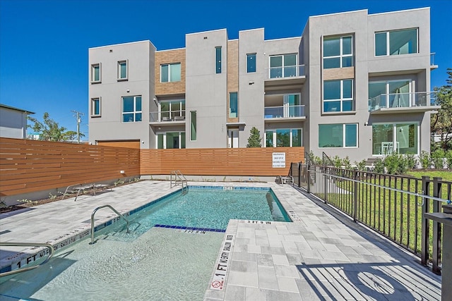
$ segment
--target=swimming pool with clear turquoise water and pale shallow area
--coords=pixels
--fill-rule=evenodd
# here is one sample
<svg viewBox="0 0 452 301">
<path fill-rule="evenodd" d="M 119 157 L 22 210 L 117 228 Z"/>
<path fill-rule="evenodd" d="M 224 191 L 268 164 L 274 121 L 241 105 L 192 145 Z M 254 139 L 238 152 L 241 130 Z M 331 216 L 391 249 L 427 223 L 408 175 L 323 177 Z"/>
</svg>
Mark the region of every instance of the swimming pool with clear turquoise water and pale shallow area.
<svg viewBox="0 0 452 301">
<path fill-rule="evenodd" d="M 98 226 L 95 245 L 65 247 L 48 264 L 2 283 L 1 297 L 202 300 L 229 219 L 290 221 L 271 190 L 230 189 L 190 187 L 187 195 L 133 210 L 130 235 L 122 221 Z"/>
</svg>

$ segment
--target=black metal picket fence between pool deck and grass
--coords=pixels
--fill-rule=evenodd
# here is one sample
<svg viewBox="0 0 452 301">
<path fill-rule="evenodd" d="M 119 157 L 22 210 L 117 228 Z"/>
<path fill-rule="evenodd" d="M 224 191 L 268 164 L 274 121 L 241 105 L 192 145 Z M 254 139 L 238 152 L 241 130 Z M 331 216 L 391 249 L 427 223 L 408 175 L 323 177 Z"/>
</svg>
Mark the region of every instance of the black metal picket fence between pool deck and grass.
<svg viewBox="0 0 452 301">
<path fill-rule="evenodd" d="M 441 223 L 423 213 L 441 211 L 452 198 L 452 182 L 299 163 L 292 163 L 290 176 L 295 185 L 417 254 L 422 264 L 432 262 L 441 274 Z"/>
</svg>

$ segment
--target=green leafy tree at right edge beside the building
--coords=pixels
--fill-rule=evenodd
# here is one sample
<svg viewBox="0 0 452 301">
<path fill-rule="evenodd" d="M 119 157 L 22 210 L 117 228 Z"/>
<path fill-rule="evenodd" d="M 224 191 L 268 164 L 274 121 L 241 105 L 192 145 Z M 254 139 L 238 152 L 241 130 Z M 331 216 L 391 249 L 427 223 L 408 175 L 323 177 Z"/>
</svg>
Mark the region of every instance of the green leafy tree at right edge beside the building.
<svg viewBox="0 0 452 301">
<path fill-rule="evenodd" d="M 441 149 L 444 150 L 452 146 L 452 68 L 447 69 L 447 74 L 446 85 L 434 87 L 436 105 L 441 109 L 430 119 L 431 132 L 439 135 Z"/>
</svg>

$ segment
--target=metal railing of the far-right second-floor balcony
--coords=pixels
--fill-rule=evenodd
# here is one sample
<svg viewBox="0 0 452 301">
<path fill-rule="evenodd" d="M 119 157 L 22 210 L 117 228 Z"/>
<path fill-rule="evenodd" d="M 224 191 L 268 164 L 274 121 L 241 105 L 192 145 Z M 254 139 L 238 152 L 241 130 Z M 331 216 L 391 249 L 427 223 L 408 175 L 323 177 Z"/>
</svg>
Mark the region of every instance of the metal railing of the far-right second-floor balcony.
<svg viewBox="0 0 452 301">
<path fill-rule="evenodd" d="M 369 99 L 369 112 L 381 108 L 410 108 L 413 106 L 434 105 L 436 105 L 434 92 L 380 94 Z"/>
</svg>

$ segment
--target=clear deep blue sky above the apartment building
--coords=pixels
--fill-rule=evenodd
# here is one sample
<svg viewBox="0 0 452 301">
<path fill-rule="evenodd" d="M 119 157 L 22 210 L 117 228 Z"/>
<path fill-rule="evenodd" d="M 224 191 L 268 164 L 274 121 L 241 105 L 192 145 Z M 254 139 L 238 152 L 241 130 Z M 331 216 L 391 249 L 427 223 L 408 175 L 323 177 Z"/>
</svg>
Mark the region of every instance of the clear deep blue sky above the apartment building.
<svg viewBox="0 0 452 301">
<path fill-rule="evenodd" d="M 309 16 L 367 8 L 369 13 L 431 8 L 431 51 L 439 68 L 432 87 L 452 68 L 450 0 L 0 0 L 0 102 L 50 117 L 88 136 L 88 48 L 150 39 L 158 50 L 181 48 L 185 34 L 265 27 L 266 39 L 302 35 Z"/>
</svg>

